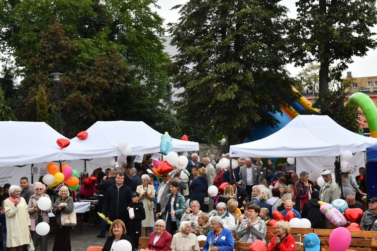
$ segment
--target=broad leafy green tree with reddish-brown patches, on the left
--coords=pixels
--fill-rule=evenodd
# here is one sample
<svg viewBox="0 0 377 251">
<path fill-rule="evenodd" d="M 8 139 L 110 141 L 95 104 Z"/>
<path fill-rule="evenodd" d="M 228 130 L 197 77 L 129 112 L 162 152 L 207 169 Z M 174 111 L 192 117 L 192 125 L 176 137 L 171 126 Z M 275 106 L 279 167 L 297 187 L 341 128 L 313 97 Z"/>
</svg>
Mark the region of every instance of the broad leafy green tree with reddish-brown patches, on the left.
<svg viewBox="0 0 377 251">
<path fill-rule="evenodd" d="M 170 58 L 157 36 L 164 29 L 162 18 L 151 10 L 156 2 L 0 0 L 0 49 L 13 55 L 13 66 L 24 77 L 15 109 L 20 120 L 37 119 L 34 97 L 40 85 L 54 117 L 57 89 L 49 74 L 62 72 L 66 136 L 97 120 L 148 118 L 151 126 L 161 124 L 160 114 L 166 113 L 160 113 L 159 100 Z"/>
</svg>

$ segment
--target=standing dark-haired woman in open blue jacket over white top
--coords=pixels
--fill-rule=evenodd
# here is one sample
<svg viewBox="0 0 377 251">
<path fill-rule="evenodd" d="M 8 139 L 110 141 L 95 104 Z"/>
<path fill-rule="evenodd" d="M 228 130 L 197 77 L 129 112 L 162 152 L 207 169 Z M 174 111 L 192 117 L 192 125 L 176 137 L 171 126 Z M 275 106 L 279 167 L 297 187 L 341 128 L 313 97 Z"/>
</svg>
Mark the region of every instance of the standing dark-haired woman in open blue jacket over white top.
<svg viewBox="0 0 377 251">
<path fill-rule="evenodd" d="M 165 229 L 171 234 L 171 236 L 173 236 L 175 231 L 179 229 L 180 219 L 183 216 L 186 202 L 184 201 L 183 195 L 178 192 L 178 182 L 172 181 L 169 185 L 171 194 L 166 196 L 165 207 L 161 212 L 156 213 L 156 217 L 159 217 L 162 214 L 165 215 Z"/>
</svg>

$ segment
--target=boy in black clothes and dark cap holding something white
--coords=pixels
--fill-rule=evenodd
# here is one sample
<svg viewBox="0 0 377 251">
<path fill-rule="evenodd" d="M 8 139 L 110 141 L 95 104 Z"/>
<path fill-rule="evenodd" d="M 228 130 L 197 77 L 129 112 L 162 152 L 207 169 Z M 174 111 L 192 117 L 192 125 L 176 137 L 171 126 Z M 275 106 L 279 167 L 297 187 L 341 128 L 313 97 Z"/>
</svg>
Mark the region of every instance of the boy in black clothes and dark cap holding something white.
<svg viewBox="0 0 377 251">
<path fill-rule="evenodd" d="M 130 224 L 127 234 L 132 239 L 132 250 L 139 249 L 139 238 L 141 235 L 141 221 L 145 219 L 145 210 L 143 203 L 139 201 L 140 194 L 138 192 L 133 192 L 131 194 L 132 202 L 130 206 L 127 207 L 127 210 L 133 209 L 134 216 L 131 217 L 130 214 Z"/>
</svg>

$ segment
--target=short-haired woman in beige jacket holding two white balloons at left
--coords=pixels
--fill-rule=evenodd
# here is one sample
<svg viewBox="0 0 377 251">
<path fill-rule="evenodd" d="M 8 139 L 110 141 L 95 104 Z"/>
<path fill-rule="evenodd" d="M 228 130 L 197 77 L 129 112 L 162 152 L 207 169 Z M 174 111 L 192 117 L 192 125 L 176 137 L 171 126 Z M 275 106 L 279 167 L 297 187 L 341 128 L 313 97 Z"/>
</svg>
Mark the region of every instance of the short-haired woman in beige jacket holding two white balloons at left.
<svg viewBox="0 0 377 251">
<path fill-rule="evenodd" d="M 29 212 L 30 221 L 31 221 L 30 233 L 31 233 L 31 236 L 35 245 L 37 245 L 38 236 L 39 236 L 40 241 L 41 241 L 40 242 L 41 251 L 48 250 L 47 249 L 48 235 L 47 234 L 43 236 L 39 235 L 35 231 L 35 226 L 40 222 L 50 223 L 50 218 L 48 217 L 48 213 L 51 212 L 52 210 L 52 207 L 50 207 L 49 209 L 45 211 L 42 211 L 38 208 L 38 200 L 40 198 L 42 197 L 49 198 L 49 196 L 44 193 L 45 190 L 46 190 L 46 186 L 43 185 L 41 182 L 34 183 L 35 194 L 30 196 L 29 204 L 28 204 L 28 212 Z"/>
</svg>

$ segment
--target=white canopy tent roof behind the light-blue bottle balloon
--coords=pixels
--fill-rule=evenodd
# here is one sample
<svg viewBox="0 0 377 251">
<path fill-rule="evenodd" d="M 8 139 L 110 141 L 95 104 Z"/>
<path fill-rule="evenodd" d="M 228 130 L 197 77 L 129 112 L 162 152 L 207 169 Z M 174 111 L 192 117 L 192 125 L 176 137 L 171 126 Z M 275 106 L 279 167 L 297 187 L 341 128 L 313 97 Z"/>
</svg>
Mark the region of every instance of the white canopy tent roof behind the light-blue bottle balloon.
<svg viewBox="0 0 377 251">
<path fill-rule="evenodd" d="M 160 151 L 161 133 L 149 127 L 142 121 L 98 121 L 90 126 L 86 132 L 86 139 L 74 137 L 72 147 L 66 148 L 65 159 L 101 158 L 121 155 L 118 142 L 121 139 L 127 141 L 132 149 L 132 155 L 154 153 Z M 90 152 L 87 146 L 98 149 Z M 178 151 L 199 151 L 199 143 L 172 139 L 172 149 Z M 63 149 L 65 150 L 65 149 Z"/>
</svg>

